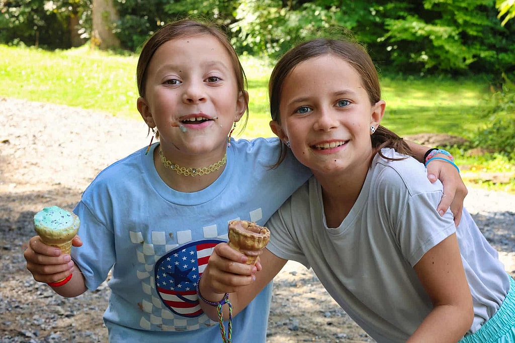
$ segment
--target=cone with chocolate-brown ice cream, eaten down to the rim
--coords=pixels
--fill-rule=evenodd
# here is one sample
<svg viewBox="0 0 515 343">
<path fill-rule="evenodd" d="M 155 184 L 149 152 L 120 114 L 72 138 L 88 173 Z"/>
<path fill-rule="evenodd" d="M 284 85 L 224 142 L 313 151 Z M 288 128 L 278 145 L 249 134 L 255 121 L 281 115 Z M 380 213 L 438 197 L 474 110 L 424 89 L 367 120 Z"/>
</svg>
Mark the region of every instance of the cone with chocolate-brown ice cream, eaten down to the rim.
<svg viewBox="0 0 515 343">
<path fill-rule="evenodd" d="M 255 264 L 270 240 L 270 230 L 246 220 L 233 220 L 228 227 L 229 246 L 247 255 L 247 264 Z"/>
</svg>

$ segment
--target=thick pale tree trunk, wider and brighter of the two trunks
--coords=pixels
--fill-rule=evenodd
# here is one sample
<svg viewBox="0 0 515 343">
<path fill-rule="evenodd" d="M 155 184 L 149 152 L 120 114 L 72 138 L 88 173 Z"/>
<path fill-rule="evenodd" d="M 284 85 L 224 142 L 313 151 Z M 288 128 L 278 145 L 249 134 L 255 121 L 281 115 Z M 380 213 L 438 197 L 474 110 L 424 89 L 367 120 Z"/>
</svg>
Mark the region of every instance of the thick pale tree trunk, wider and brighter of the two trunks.
<svg viewBox="0 0 515 343">
<path fill-rule="evenodd" d="M 93 0 L 92 8 L 93 30 L 91 44 L 100 49 L 112 49 L 120 46 L 120 41 L 113 33 L 113 23 L 119 17 L 113 5 L 113 0 Z"/>
</svg>

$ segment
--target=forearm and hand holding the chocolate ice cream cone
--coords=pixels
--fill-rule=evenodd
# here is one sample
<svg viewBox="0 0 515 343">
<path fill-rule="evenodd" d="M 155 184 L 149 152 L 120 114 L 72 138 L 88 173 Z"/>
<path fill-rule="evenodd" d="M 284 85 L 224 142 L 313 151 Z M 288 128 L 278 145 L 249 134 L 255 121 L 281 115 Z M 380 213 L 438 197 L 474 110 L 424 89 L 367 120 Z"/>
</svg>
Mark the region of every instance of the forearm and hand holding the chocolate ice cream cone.
<svg viewBox="0 0 515 343">
<path fill-rule="evenodd" d="M 256 265 L 245 262 L 247 257 L 227 243 L 215 246 L 199 282 L 202 298 L 218 302 L 229 293 L 233 316 L 241 312 L 279 273 L 287 260 L 264 249 Z M 218 320 L 217 309 L 199 299 L 200 306 L 212 320 Z M 224 305 L 224 320 L 229 319 L 228 305 Z"/>
</svg>

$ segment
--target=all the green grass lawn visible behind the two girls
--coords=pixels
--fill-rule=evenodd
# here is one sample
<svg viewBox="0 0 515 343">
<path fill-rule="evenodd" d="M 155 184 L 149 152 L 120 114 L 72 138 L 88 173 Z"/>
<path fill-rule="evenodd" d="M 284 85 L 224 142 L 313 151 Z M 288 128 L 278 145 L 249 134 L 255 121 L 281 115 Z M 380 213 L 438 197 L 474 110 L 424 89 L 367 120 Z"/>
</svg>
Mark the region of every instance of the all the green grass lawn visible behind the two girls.
<svg viewBox="0 0 515 343">
<path fill-rule="evenodd" d="M 135 55 L 120 56 L 88 46 L 50 52 L 0 45 L 0 56 L 2 97 L 79 106 L 141 120 L 136 109 Z M 273 136 L 268 125 L 267 93 L 271 63 L 249 56 L 241 61 L 248 79 L 250 116 L 245 131 L 238 136 Z M 487 123 L 488 119 L 471 111 L 490 95 L 483 80 L 383 76 L 381 84 L 387 102 L 382 123 L 400 136 L 431 132 L 469 138 Z M 472 170 L 515 174 L 513 164 L 502 157 L 483 156 L 470 162 L 464 153 L 454 153 L 458 164 L 473 165 Z M 474 178 L 472 182 L 515 192 L 515 180 L 508 185 L 485 184 Z"/>
</svg>

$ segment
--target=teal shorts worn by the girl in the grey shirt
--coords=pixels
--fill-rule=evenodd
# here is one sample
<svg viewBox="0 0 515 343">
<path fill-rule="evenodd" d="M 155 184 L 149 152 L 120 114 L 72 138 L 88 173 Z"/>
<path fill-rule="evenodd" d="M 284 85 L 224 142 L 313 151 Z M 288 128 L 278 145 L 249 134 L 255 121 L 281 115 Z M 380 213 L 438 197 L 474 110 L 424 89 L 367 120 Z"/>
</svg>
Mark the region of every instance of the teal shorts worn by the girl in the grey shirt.
<svg viewBox="0 0 515 343">
<path fill-rule="evenodd" d="M 472 335 L 459 343 L 513 343 L 515 342 L 515 280 L 511 277 L 510 290 L 493 317 Z"/>
</svg>

